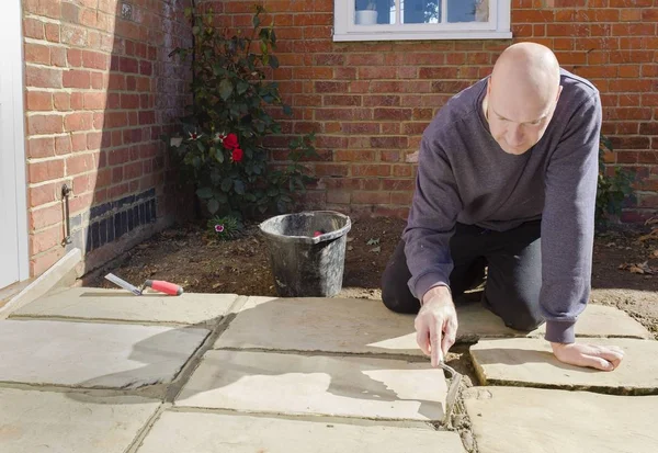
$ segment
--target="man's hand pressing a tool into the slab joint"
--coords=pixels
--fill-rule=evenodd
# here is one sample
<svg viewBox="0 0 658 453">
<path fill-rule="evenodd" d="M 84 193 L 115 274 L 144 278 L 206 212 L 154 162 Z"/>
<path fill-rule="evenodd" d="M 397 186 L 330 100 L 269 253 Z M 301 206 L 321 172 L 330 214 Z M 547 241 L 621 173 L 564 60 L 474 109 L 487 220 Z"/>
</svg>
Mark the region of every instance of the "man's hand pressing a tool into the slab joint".
<svg viewBox="0 0 658 453">
<path fill-rule="evenodd" d="M 432 366 L 436 366 L 457 335 L 457 313 L 447 287 L 434 286 L 423 295 L 413 326 L 418 346 L 432 356 Z"/>
</svg>

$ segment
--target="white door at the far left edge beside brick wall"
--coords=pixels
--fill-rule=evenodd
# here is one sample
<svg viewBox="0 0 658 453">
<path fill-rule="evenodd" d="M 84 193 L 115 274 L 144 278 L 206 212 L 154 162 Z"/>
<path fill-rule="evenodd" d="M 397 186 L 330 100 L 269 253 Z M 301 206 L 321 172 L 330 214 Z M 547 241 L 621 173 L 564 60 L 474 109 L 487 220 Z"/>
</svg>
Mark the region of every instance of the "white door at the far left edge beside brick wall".
<svg viewBox="0 0 658 453">
<path fill-rule="evenodd" d="M 21 1 L 0 14 L 0 288 L 29 278 Z"/>
</svg>

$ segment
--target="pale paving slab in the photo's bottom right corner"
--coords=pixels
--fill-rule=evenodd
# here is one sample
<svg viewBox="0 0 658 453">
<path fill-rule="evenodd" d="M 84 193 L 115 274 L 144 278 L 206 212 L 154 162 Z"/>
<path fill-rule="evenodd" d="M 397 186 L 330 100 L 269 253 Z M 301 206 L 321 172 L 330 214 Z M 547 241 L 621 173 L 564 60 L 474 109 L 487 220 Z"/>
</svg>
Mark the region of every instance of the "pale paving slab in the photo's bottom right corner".
<svg viewBox="0 0 658 453">
<path fill-rule="evenodd" d="M 521 387 L 464 393 L 479 453 L 654 453 L 658 397 Z"/>
</svg>

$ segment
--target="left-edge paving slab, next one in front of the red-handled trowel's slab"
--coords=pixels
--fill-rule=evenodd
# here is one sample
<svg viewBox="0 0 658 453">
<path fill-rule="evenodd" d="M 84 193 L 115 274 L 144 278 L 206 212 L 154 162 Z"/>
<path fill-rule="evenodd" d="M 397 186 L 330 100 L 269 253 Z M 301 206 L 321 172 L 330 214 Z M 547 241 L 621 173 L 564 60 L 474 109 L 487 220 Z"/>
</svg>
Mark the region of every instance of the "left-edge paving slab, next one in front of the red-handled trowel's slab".
<svg viewBox="0 0 658 453">
<path fill-rule="evenodd" d="M 162 327 L 0 321 L 0 382 L 137 388 L 171 382 L 209 333 Z"/>
</svg>

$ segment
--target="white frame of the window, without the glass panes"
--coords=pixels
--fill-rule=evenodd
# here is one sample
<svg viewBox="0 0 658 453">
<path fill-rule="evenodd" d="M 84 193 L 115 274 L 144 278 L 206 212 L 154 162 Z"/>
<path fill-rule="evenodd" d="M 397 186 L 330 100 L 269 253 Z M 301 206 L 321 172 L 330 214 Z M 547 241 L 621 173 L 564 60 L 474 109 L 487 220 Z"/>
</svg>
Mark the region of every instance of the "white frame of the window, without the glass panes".
<svg viewBox="0 0 658 453">
<path fill-rule="evenodd" d="M 512 37 L 511 0 L 489 0 L 489 22 L 439 24 L 355 25 L 354 4 L 355 0 L 333 0 L 333 41 L 508 39 Z M 396 4 L 399 4 L 399 0 L 396 0 Z M 397 22 L 400 22 L 399 8 L 396 8 L 396 11 Z"/>
</svg>

